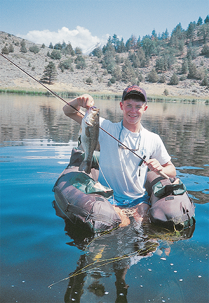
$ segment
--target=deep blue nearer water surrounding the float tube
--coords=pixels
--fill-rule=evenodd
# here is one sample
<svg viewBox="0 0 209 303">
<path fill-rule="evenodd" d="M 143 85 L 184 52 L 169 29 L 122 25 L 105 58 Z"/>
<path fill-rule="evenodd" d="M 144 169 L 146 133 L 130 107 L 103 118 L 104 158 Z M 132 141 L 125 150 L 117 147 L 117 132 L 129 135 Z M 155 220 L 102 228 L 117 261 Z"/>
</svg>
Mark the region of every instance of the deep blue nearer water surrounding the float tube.
<svg viewBox="0 0 209 303">
<path fill-rule="evenodd" d="M 54 183 L 67 166 L 76 141 L 69 139 L 67 127 L 65 140 L 55 140 L 54 131 L 53 135 L 33 131 L 22 139 L 19 133 L 2 133 L 1 302 L 208 302 L 209 178 L 205 152 L 199 165 L 195 165 L 194 161 L 183 162 L 173 150 L 178 176 L 195 202 L 192 237 L 149 237 L 145 241 L 145 231 L 139 229 L 137 233 L 132 225 L 96 239 L 84 251 L 86 244 L 74 243 L 64 230 L 64 220 L 56 216 L 51 205 Z M 208 144 L 208 134 L 204 140 Z M 91 264 L 99 254 L 108 259 L 127 254 L 132 246 L 143 248 L 144 243 L 151 248 L 142 255 L 98 269 L 89 266 L 83 276 L 77 276 L 73 286 L 69 284 L 70 288 L 69 279 L 48 288 L 76 272 L 82 264 Z M 127 293 L 121 290 L 120 283 L 115 284 L 121 277 Z M 71 297 L 66 295 L 69 289 L 74 291 Z"/>
</svg>

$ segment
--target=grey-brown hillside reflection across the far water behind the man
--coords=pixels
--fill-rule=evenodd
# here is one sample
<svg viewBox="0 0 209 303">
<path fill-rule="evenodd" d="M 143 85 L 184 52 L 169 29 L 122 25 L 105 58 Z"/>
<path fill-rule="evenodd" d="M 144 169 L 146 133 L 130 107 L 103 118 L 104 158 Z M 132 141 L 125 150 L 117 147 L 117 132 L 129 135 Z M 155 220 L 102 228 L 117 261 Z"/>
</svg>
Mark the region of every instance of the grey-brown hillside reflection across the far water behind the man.
<svg viewBox="0 0 209 303">
<path fill-rule="evenodd" d="M 2 109 L 1 141 L 52 139 L 54 142 L 77 141 L 80 126 L 67 118 L 62 105 L 53 97 L 11 96 Z M 10 99 L 9 98 L 9 99 Z M 16 107 L 14 107 L 16 100 Z M 113 122 L 122 119 L 119 100 L 96 100 L 101 116 Z M 171 111 L 171 112 L 170 112 Z M 150 103 L 142 124 L 158 133 L 177 167 L 202 167 L 208 163 L 208 107 L 191 104 Z M 21 143 L 20 143 L 21 144 Z M 208 168 L 201 173 L 208 175 Z"/>
</svg>

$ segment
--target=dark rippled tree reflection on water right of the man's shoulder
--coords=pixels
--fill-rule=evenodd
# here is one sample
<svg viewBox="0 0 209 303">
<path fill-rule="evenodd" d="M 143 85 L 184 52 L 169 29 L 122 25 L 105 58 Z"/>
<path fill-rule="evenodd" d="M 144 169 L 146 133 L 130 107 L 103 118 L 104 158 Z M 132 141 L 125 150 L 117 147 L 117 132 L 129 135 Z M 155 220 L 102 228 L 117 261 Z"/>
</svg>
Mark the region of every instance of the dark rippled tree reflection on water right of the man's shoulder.
<svg viewBox="0 0 209 303">
<path fill-rule="evenodd" d="M 148 130 L 163 139 L 175 166 L 202 167 L 208 163 L 209 120 L 207 113 L 188 119 L 184 116 L 148 116 L 143 118 Z M 206 170 L 201 175 L 207 174 Z"/>
</svg>

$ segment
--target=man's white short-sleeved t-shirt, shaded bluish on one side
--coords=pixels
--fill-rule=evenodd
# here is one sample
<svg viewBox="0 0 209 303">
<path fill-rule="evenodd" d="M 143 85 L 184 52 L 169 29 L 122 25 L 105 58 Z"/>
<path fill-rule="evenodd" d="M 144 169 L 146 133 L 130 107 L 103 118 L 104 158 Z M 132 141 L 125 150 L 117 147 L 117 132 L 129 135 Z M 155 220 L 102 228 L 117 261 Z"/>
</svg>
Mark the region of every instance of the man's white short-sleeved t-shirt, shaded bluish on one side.
<svg viewBox="0 0 209 303">
<path fill-rule="evenodd" d="M 139 133 L 133 133 L 122 126 L 121 122 L 112 123 L 99 118 L 99 124 L 117 139 L 123 127 L 120 141 L 130 149 L 138 149 L 134 153 L 142 158 L 146 156 L 145 160 L 155 158 L 161 165 L 171 160 L 160 136 L 146 130 L 143 126 Z M 139 167 L 141 159 L 130 150 L 120 148 L 118 141 L 101 129 L 99 130 L 99 144 L 99 165 L 102 173 L 99 170 L 98 181 L 102 185 L 110 186 L 118 201 L 142 197 L 145 194 L 147 166 L 142 163 Z"/>
</svg>

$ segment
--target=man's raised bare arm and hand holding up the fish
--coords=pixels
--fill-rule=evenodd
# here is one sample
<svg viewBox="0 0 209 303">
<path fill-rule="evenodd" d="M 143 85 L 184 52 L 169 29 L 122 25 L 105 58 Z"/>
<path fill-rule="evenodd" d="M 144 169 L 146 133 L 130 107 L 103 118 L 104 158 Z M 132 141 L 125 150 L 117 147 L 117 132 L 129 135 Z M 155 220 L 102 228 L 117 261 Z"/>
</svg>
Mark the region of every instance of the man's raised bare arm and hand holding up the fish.
<svg viewBox="0 0 209 303">
<path fill-rule="evenodd" d="M 81 110 L 81 107 L 89 109 L 91 106 L 94 105 L 94 100 L 89 94 L 83 94 L 71 100 L 69 104 L 72 105 L 79 112 L 77 112 L 73 107 L 65 105 L 63 107 L 65 115 L 81 124 L 83 116 L 85 115 L 85 112 Z"/>
</svg>

